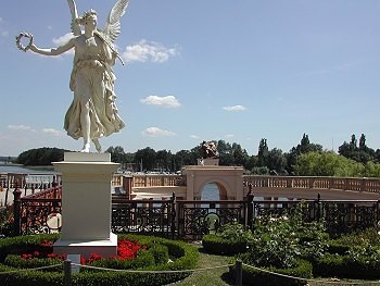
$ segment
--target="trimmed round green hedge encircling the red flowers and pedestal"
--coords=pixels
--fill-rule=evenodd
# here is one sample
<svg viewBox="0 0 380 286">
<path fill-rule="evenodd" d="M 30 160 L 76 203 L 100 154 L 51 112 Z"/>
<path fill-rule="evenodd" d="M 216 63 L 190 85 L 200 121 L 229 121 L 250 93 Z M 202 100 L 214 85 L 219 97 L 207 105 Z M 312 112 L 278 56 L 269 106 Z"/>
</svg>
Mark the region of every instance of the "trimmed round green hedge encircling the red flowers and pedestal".
<svg viewBox="0 0 380 286">
<path fill-rule="evenodd" d="M 36 247 L 40 245 L 43 239 L 56 239 L 56 235 L 35 235 L 5 238 L 0 240 L 0 272 L 18 271 L 15 273 L 0 273 L 2 286 L 16 285 L 39 285 L 39 286 L 58 286 L 63 283 L 63 272 L 46 271 L 20 271 L 18 268 L 5 265 L 8 254 L 22 254 L 25 252 L 33 252 Z M 135 265 L 136 270 L 144 271 L 172 271 L 172 270 L 191 270 L 195 268 L 199 259 L 198 249 L 187 245 L 183 241 L 169 240 L 165 238 L 139 236 L 139 235 L 119 235 L 119 239 L 138 240 L 140 245 L 152 247 L 153 251 L 148 256 L 150 263 L 148 266 Z M 167 251 L 166 251 L 167 249 Z M 162 263 L 166 258 L 170 258 L 170 262 Z M 8 258 L 8 262 L 13 261 L 17 263 L 14 256 Z M 33 260 L 30 260 L 33 261 Z M 38 259 L 36 259 L 38 261 Z M 112 263 L 112 260 L 100 260 L 104 265 Z M 43 263 L 54 263 L 55 260 L 50 260 Z M 29 262 L 31 263 L 31 262 Z M 36 262 L 36 266 L 39 266 Z M 62 263 L 62 261 L 61 261 Z M 97 263 L 100 263 L 97 261 Z M 12 263 L 11 263 L 12 264 Z M 33 264 L 28 264 L 33 266 Z M 125 265 L 127 266 L 127 265 Z M 128 265 L 129 268 L 130 265 Z M 179 273 L 128 273 L 128 272 L 111 272 L 93 270 L 88 271 L 83 268 L 79 274 L 72 276 L 73 286 L 103 286 L 103 285 L 118 285 L 118 286 L 134 286 L 134 285 L 165 285 L 187 277 L 189 272 Z"/>
</svg>

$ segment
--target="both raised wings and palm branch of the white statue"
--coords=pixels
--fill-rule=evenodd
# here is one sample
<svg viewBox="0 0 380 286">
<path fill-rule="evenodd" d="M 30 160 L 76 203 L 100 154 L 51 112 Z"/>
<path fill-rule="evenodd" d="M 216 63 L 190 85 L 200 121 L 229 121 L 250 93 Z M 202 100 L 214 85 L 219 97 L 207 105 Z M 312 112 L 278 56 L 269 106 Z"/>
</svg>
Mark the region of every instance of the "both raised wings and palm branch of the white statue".
<svg viewBox="0 0 380 286">
<path fill-rule="evenodd" d="M 76 8 L 75 0 L 67 0 L 71 13 L 72 13 L 72 33 L 74 36 L 79 36 L 81 34 L 80 24 L 78 23 L 78 11 Z M 121 17 L 125 14 L 129 0 L 117 0 L 110 14 L 106 18 L 104 29 L 97 29 L 96 34 L 110 47 L 110 49 L 115 52 L 116 57 L 119 59 L 124 65 L 124 61 L 119 53 L 117 52 L 114 42 L 122 32 Z"/>
</svg>

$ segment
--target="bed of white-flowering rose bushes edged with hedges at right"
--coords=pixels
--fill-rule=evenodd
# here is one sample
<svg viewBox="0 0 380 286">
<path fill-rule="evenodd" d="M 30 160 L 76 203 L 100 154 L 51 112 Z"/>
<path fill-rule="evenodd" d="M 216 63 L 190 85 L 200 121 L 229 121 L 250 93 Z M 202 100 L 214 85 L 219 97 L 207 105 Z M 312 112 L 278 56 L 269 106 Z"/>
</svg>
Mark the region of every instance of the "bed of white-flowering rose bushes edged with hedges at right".
<svg viewBox="0 0 380 286">
<path fill-rule="evenodd" d="M 240 252 L 233 260 L 238 258 L 243 263 L 244 285 L 304 285 L 312 277 L 380 278 L 377 228 L 331 238 L 325 232 L 324 222 L 306 223 L 302 215 L 302 209 L 296 209 L 289 216 L 257 217 L 251 235 L 245 234 L 242 226 L 242 232 L 233 231 L 239 226 L 231 224 L 219 234 L 204 236 L 203 250 Z M 244 241 L 248 247 L 240 251 L 239 243 Z M 229 274 L 235 273 L 231 266 Z"/>
</svg>

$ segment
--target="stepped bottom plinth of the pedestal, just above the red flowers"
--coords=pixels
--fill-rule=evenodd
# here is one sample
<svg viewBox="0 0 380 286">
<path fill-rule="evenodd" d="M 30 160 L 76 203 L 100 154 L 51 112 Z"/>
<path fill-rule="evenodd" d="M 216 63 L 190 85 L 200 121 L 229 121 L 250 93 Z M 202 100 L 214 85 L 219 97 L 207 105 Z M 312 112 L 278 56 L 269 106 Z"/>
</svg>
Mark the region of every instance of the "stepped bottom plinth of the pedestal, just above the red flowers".
<svg viewBox="0 0 380 286">
<path fill-rule="evenodd" d="M 56 254 L 80 254 L 84 258 L 90 258 L 92 253 L 100 254 L 102 258 L 116 257 L 117 235 L 111 233 L 107 240 L 59 239 L 53 245 L 53 251 Z"/>
</svg>

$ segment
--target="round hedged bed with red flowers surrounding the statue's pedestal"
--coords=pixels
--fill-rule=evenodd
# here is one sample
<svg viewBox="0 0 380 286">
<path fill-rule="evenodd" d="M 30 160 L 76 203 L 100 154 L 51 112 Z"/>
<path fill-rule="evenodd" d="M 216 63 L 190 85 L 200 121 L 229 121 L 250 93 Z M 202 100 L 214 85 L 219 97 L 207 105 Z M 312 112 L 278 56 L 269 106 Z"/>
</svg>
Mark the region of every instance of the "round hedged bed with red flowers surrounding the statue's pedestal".
<svg viewBox="0 0 380 286">
<path fill-rule="evenodd" d="M 20 271 L 47 265 L 62 264 L 64 256 L 51 251 L 56 235 L 36 235 L 7 238 L 0 240 L 1 285 L 62 285 L 62 269 L 43 271 Z M 189 270 L 195 266 L 198 250 L 182 241 L 149 236 L 118 236 L 118 253 L 115 258 L 104 259 L 93 253 L 85 258 L 85 265 L 118 269 L 169 271 Z M 189 273 L 131 273 L 98 271 L 81 268 L 79 274 L 72 276 L 72 285 L 164 285 L 179 281 Z"/>
</svg>

